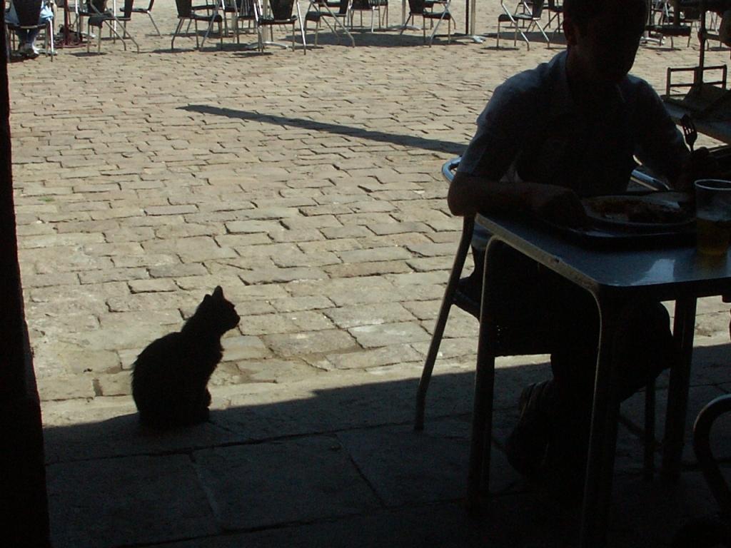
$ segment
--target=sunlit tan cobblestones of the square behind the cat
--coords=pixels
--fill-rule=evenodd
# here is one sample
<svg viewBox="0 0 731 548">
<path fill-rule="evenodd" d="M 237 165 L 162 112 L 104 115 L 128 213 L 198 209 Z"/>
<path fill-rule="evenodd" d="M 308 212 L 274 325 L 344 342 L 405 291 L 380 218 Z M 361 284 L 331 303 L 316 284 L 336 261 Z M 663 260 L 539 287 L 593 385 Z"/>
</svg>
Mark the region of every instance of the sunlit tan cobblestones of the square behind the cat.
<svg viewBox="0 0 731 548">
<path fill-rule="evenodd" d="M 494 31 L 498 11 L 480 2 L 477 31 Z M 105 40 L 101 55 L 10 66 L 42 398 L 129 394 L 137 352 L 218 284 L 242 321 L 213 384 L 417 367 L 460 228 L 439 167 L 496 85 L 561 46 L 425 47 L 388 31 L 347 47 L 323 32 L 306 55 L 232 39 L 199 52 L 192 37 L 172 52 L 175 4 L 153 13 L 162 37 L 144 16 L 129 26 L 141 53 Z M 667 66 L 697 61 L 676 45 L 643 47 L 635 72 L 662 88 Z M 475 332 L 455 314 L 445 353 L 470 364 Z"/>
</svg>

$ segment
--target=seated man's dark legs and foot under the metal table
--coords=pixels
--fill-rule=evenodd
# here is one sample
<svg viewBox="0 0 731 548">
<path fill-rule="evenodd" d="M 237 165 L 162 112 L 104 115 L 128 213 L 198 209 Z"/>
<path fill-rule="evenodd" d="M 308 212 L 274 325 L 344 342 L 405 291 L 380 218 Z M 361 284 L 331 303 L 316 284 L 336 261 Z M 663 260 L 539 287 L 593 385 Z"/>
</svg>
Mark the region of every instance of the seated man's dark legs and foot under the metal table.
<svg viewBox="0 0 731 548">
<path fill-rule="evenodd" d="M 535 313 L 550 328 L 553 378 L 526 387 L 520 420 L 507 444 L 510 463 L 545 476 L 558 495 L 580 493 L 594 397 L 599 314 L 588 292 L 543 268 L 534 281 L 545 301 Z M 658 302 L 639 302 L 615 341 L 620 397 L 634 394 L 671 364 L 670 318 Z"/>
</svg>

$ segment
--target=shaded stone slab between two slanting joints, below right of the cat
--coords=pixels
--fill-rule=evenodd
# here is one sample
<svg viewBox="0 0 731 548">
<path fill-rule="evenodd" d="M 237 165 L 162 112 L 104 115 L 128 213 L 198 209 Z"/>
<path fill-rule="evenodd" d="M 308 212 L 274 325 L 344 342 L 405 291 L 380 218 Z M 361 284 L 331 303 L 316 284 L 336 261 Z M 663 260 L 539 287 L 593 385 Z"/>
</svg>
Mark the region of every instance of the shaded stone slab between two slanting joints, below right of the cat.
<svg viewBox="0 0 731 548">
<path fill-rule="evenodd" d="M 363 514 L 379 506 L 334 437 L 220 447 L 192 457 L 224 530 Z"/>
</svg>

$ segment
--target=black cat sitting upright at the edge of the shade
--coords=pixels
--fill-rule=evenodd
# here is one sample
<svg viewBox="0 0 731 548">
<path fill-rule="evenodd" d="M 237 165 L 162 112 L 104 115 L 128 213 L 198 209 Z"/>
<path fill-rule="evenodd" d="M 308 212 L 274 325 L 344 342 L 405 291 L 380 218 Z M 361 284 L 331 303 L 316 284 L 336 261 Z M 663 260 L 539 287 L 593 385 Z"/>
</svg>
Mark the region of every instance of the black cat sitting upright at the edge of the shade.
<svg viewBox="0 0 731 548">
<path fill-rule="evenodd" d="M 239 316 L 221 286 L 206 295 L 180 332 L 150 343 L 135 361 L 132 397 L 143 425 L 170 428 L 208 419 L 206 385 L 221 361 L 221 336 Z"/>
</svg>

